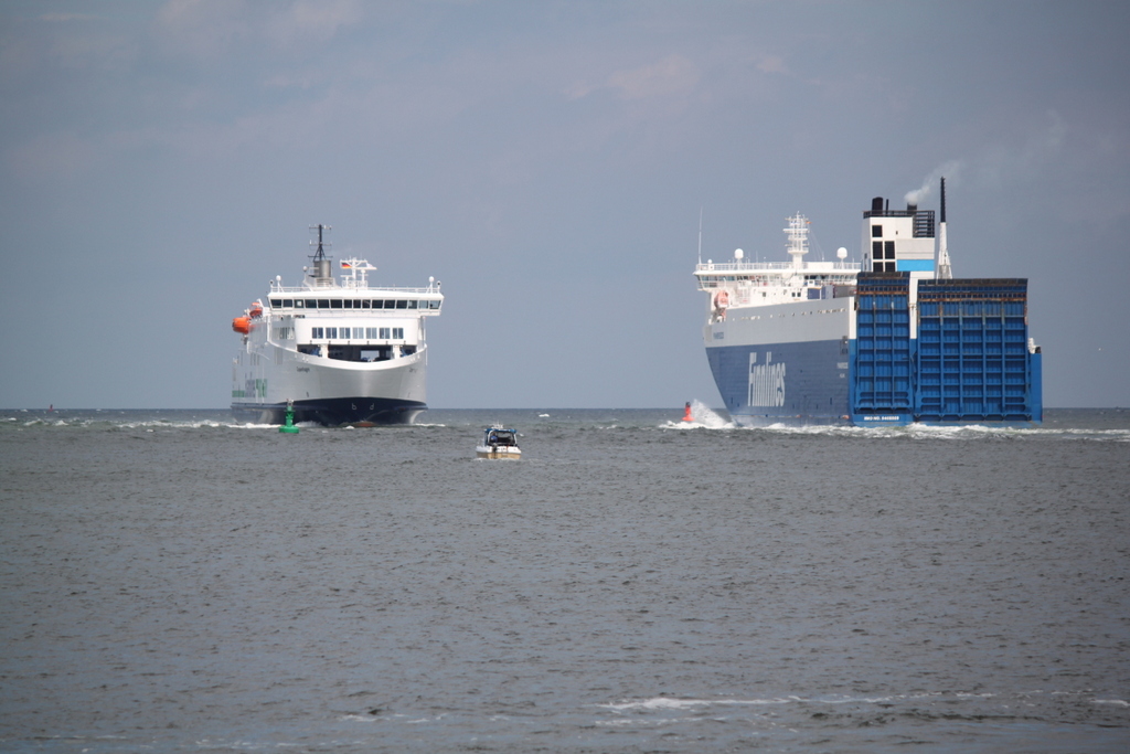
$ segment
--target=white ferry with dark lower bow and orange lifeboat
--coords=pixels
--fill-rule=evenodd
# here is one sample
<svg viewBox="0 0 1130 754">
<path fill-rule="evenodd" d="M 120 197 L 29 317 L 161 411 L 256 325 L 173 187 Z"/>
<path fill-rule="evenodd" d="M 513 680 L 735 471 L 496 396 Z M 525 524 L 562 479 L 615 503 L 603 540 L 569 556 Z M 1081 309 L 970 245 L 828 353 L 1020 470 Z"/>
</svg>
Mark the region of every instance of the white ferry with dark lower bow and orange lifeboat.
<svg viewBox="0 0 1130 754">
<path fill-rule="evenodd" d="M 232 322 L 241 335 L 232 410 L 281 424 L 293 401 L 296 422 L 410 424 L 427 408 L 424 323 L 443 306 L 440 283 L 370 287 L 376 268 L 364 259 L 342 259 L 334 280 L 323 239 L 330 228 L 315 228 L 313 265 L 302 285 L 285 286 L 277 276 L 266 302 L 255 301 Z"/>
</svg>

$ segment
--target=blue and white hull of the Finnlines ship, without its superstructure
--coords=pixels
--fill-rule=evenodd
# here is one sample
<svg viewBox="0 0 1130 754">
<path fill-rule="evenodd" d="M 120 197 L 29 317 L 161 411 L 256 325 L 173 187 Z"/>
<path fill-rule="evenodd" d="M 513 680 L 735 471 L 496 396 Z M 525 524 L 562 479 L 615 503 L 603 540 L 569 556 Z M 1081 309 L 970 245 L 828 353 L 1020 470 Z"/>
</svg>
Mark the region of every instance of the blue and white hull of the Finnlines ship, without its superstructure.
<svg viewBox="0 0 1130 754">
<path fill-rule="evenodd" d="M 852 296 L 736 309 L 706 357 L 744 426 L 1036 426 L 1042 358 L 1023 279 L 860 277 Z M 899 295 L 902 294 L 902 295 Z"/>
</svg>

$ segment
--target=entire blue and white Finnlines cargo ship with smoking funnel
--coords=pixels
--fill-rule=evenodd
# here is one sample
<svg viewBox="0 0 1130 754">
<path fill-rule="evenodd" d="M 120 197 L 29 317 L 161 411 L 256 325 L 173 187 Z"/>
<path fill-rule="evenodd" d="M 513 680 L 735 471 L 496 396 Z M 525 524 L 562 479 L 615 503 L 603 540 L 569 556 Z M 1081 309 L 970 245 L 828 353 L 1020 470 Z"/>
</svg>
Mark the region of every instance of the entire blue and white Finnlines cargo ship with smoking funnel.
<svg viewBox="0 0 1130 754">
<path fill-rule="evenodd" d="M 786 262 L 695 268 L 703 340 L 741 425 L 1031 425 L 1042 421 L 1041 352 L 1024 278 L 955 278 L 946 184 L 933 210 L 863 213 L 862 261 L 808 261 L 808 219 L 789 218 Z"/>
</svg>

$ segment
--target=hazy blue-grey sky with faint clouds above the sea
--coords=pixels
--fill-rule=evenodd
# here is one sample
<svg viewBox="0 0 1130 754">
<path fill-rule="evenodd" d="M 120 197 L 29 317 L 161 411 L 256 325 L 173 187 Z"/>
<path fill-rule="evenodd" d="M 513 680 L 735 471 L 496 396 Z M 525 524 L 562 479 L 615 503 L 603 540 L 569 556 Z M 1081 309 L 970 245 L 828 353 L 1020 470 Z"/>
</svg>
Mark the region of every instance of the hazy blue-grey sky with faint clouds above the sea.
<svg viewBox="0 0 1130 754">
<path fill-rule="evenodd" d="M 443 284 L 435 408 L 721 405 L 698 259 L 937 209 L 1130 406 L 1130 3 L 0 1 L 0 407 L 224 408 L 310 226 Z M 702 223 L 699 240 L 699 218 Z"/>
</svg>

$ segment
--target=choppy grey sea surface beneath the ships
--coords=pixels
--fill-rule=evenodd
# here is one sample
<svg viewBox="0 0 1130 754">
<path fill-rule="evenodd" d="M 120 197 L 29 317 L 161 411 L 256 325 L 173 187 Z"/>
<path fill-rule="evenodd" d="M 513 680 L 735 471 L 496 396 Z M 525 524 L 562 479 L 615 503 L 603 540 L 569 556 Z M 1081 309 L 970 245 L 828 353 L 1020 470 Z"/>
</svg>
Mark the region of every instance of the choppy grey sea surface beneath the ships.
<svg viewBox="0 0 1130 754">
<path fill-rule="evenodd" d="M 698 414 L 0 411 L 0 751 L 1130 751 L 1130 411 Z"/>
</svg>

